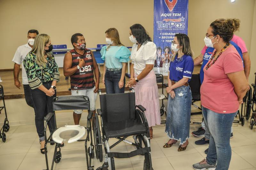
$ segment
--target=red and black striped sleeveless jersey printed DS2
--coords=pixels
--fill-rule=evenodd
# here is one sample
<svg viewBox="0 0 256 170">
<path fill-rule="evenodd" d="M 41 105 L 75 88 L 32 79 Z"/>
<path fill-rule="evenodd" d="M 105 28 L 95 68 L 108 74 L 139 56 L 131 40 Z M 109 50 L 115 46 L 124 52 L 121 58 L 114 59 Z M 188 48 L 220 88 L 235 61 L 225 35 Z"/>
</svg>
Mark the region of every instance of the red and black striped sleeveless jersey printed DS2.
<svg viewBox="0 0 256 170">
<path fill-rule="evenodd" d="M 79 59 L 84 59 L 85 66 L 77 70 L 70 76 L 72 90 L 92 89 L 95 85 L 93 75 L 93 60 L 89 49 L 84 50 L 84 55 L 80 55 L 75 49 L 69 51 L 72 54 L 72 67 L 79 64 Z"/>
</svg>

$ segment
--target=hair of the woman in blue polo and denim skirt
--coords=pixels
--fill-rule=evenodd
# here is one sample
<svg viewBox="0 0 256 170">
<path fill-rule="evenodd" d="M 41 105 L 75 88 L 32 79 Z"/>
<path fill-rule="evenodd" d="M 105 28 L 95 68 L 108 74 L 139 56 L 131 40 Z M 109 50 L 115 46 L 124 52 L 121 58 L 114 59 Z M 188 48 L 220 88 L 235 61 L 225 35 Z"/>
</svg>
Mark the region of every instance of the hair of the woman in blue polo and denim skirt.
<svg viewBox="0 0 256 170">
<path fill-rule="evenodd" d="M 180 44 L 180 46 L 182 46 L 182 53 L 185 55 L 190 55 L 193 58 L 193 51 L 190 48 L 190 42 L 189 42 L 189 38 L 186 34 L 183 33 L 177 33 L 175 34 L 175 37 L 177 37 L 177 40 Z M 173 62 L 175 59 L 175 56 L 178 52 L 176 52 L 174 55 L 172 55 L 171 61 Z"/>
</svg>

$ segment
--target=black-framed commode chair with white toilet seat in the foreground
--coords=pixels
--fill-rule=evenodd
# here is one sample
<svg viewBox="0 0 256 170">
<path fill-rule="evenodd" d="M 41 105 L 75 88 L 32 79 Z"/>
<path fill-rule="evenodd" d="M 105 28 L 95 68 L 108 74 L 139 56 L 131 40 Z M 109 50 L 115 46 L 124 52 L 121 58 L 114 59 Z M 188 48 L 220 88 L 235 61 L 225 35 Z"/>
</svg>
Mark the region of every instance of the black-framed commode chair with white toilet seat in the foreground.
<svg viewBox="0 0 256 170">
<path fill-rule="evenodd" d="M 84 142 L 87 170 L 93 170 L 94 166 L 92 166 L 92 159 L 94 158 L 94 145 L 92 140 L 92 126 L 91 126 L 93 113 L 92 111 L 90 111 L 89 98 L 87 96 L 59 96 L 53 99 L 52 105 L 53 105 L 53 113 L 48 113 L 44 118 L 44 121 L 45 121 L 45 127 L 44 127 L 44 137 L 45 137 L 44 151 L 45 152 L 44 154 L 45 154 L 46 167 L 47 167 L 46 170 L 49 170 L 47 148 L 46 148 L 47 144 L 50 143 L 51 145 L 53 145 L 54 143 L 56 143 L 54 155 L 52 159 L 52 166 L 51 166 L 51 170 L 52 170 L 54 162 L 59 163 L 61 160 L 60 144 L 66 141 L 66 139 L 63 139 L 60 137 L 60 134 L 62 132 L 67 132 L 70 130 L 73 130 L 76 134 L 74 137 L 71 137 L 70 139 L 68 139 L 68 143 L 72 143 L 75 141 Z M 47 123 L 52 117 L 55 118 L 55 111 L 74 110 L 74 109 L 88 110 L 87 126 L 83 127 L 80 125 L 66 125 L 65 127 L 60 127 L 57 129 L 56 119 L 55 119 L 55 123 L 54 123 L 55 130 L 47 138 L 46 136 Z M 94 129 L 94 132 L 95 132 L 95 129 Z M 84 135 L 85 135 L 85 139 L 81 139 L 82 137 L 84 137 Z M 87 148 L 87 142 L 89 142 L 90 140 L 91 140 L 91 144 Z M 105 159 L 104 164 L 101 167 L 97 168 L 97 170 L 107 170 L 107 169 L 108 169 L 108 162 L 107 162 L 107 159 Z"/>
</svg>

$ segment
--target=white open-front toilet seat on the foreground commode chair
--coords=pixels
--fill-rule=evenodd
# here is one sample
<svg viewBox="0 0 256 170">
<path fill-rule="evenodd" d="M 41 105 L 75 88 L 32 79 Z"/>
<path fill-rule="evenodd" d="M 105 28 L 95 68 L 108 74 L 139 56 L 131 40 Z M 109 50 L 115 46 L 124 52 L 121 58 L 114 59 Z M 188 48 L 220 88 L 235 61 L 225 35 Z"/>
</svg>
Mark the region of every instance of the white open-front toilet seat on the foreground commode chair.
<svg viewBox="0 0 256 170">
<path fill-rule="evenodd" d="M 63 143 L 65 141 L 65 139 L 62 139 L 60 137 L 60 134 L 61 134 L 61 132 L 68 131 L 68 130 L 77 130 L 78 131 L 78 134 L 76 136 L 68 139 L 68 143 L 76 142 L 77 140 L 81 139 L 86 133 L 85 128 L 83 126 L 80 126 L 80 125 L 66 125 L 64 127 L 60 127 L 55 132 L 53 132 L 52 140 L 56 143 L 59 143 L 59 144 Z"/>
</svg>

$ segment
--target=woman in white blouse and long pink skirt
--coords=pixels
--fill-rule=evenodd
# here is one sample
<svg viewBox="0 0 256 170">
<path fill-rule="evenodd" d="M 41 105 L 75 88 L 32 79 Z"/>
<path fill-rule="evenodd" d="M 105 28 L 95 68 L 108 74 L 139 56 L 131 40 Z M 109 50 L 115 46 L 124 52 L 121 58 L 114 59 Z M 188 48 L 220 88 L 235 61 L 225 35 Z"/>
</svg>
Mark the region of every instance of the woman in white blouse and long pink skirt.
<svg viewBox="0 0 256 170">
<path fill-rule="evenodd" d="M 131 52 L 131 78 L 127 86 L 135 90 L 136 105 L 146 108 L 150 138 L 153 138 L 152 126 L 160 125 L 158 87 L 153 67 L 156 60 L 156 44 L 152 42 L 145 28 L 140 24 L 130 27 L 130 40 L 134 43 Z"/>
</svg>

